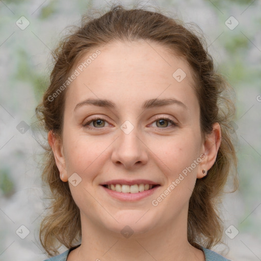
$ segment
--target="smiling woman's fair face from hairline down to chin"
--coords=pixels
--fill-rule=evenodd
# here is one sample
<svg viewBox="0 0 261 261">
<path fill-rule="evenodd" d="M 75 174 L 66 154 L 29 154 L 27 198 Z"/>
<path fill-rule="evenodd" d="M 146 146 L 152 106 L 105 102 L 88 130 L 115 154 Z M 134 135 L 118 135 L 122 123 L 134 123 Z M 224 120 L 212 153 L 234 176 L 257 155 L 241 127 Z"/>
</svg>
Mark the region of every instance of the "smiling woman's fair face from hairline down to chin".
<svg viewBox="0 0 261 261">
<path fill-rule="evenodd" d="M 190 68 L 156 43 L 98 49 L 71 70 L 79 75 L 67 87 L 62 143 L 54 150 L 82 222 L 116 233 L 126 225 L 137 233 L 173 221 L 185 226 L 196 178 L 211 168 L 218 149 L 201 138 Z M 138 186 L 128 194 L 102 186 L 111 183 Z M 160 186 L 137 192 L 140 184 Z"/>
</svg>

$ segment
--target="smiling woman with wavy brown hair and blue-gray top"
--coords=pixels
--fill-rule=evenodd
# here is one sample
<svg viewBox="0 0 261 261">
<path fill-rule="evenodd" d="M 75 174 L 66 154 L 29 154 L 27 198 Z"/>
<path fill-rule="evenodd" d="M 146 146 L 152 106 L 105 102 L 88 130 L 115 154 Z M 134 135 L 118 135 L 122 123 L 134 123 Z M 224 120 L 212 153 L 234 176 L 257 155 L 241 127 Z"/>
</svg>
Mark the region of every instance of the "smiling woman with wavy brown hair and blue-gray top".
<svg viewBox="0 0 261 261">
<path fill-rule="evenodd" d="M 43 102 L 48 260 L 227 260 L 217 203 L 237 160 L 233 103 L 203 40 L 121 5 L 55 51 Z M 59 245 L 67 251 L 58 255 Z"/>
</svg>

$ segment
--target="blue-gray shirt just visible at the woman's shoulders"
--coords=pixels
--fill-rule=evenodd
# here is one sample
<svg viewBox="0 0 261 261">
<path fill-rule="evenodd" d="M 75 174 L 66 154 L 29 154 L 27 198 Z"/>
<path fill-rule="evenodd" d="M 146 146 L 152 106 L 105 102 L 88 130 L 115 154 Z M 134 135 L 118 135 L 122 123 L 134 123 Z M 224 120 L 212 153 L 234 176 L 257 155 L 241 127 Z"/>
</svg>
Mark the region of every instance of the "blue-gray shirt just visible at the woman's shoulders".
<svg viewBox="0 0 261 261">
<path fill-rule="evenodd" d="M 54 256 L 54 257 L 50 257 L 49 259 L 45 259 L 44 261 L 66 261 L 67 256 L 69 255 L 69 252 L 77 247 L 79 247 L 80 245 L 77 245 L 75 247 L 71 247 L 69 249 L 67 249 L 65 252 L 63 252 L 60 255 Z M 222 255 L 201 247 L 201 249 L 203 250 L 204 254 L 205 254 L 205 261 L 230 261 L 228 259 L 226 259 L 225 257 L 223 257 Z"/>
</svg>

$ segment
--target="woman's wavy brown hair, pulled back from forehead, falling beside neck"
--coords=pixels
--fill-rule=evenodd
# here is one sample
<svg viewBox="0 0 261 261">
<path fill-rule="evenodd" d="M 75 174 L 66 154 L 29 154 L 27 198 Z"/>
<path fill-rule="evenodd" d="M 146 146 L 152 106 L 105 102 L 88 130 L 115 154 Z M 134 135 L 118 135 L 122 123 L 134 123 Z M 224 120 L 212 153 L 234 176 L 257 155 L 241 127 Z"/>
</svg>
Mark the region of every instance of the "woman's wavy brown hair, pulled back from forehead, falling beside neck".
<svg viewBox="0 0 261 261">
<path fill-rule="evenodd" d="M 229 173 L 232 169 L 237 169 L 236 150 L 230 131 L 230 120 L 235 107 L 229 93 L 233 92 L 233 89 L 214 68 L 204 37 L 197 36 L 186 28 L 184 22 L 145 8 L 128 10 L 119 4 L 112 5 L 109 11 L 99 17 L 84 16 L 82 24 L 63 37 L 53 51 L 55 60 L 50 84 L 36 107 L 39 124 L 46 132 L 53 132 L 57 139 L 62 137 L 66 89 L 53 100 L 48 97 L 66 82 L 69 72 L 79 58 L 109 42 L 140 40 L 159 43 L 188 62 L 199 101 L 203 137 L 212 132 L 215 122 L 221 126 L 222 138 L 216 162 L 204 178 L 196 180 L 188 211 L 189 243 L 197 248 L 200 245 L 211 248 L 222 243 L 223 221 L 219 215 L 218 204 L 221 202 Z M 68 182 L 60 179 L 53 151 L 48 144 L 44 149 L 41 177 L 44 185 L 49 188 L 50 204 L 49 213 L 41 222 L 40 242 L 45 251 L 54 256 L 59 253 L 57 244 L 71 248 L 80 242 L 81 219 Z M 238 186 L 237 182 L 235 176 L 234 187 Z"/>
</svg>

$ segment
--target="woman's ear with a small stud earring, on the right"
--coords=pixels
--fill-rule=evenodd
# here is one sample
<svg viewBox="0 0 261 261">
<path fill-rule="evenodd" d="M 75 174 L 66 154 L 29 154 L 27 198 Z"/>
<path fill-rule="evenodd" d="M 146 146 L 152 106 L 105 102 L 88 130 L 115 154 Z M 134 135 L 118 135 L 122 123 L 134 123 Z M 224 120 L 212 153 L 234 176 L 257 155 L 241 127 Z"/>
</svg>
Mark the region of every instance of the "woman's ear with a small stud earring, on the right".
<svg viewBox="0 0 261 261">
<path fill-rule="evenodd" d="M 212 132 L 206 135 L 205 141 L 202 145 L 202 161 L 198 168 L 197 178 L 202 178 L 207 174 L 207 171 L 214 165 L 218 150 L 221 143 L 221 127 L 218 122 L 213 124 Z M 202 171 L 205 170 L 205 173 Z"/>
</svg>

